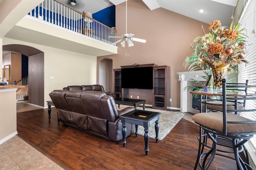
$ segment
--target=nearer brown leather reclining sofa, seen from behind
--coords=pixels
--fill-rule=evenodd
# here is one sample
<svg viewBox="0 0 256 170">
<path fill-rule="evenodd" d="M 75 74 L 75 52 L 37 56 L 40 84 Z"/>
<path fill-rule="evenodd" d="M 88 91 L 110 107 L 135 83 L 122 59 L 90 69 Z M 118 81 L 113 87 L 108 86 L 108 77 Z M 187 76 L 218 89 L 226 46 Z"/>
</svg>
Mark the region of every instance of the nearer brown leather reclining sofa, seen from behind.
<svg viewBox="0 0 256 170">
<path fill-rule="evenodd" d="M 49 95 L 57 108 L 58 122 L 110 141 L 123 139 L 119 116 L 135 110 L 126 107 L 118 111 L 114 98 L 104 92 L 54 90 Z M 126 130 L 127 137 L 134 133 L 135 125 L 126 123 Z"/>
</svg>

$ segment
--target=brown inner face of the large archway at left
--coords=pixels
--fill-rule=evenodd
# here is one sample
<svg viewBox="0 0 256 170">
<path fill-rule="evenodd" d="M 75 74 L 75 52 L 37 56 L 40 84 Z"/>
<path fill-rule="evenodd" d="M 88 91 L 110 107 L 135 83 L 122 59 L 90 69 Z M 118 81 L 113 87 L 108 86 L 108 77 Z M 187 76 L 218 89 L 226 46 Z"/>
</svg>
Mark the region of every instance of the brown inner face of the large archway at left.
<svg viewBox="0 0 256 170">
<path fill-rule="evenodd" d="M 2 50 L 28 57 L 28 103 L 44 107 L 44 52 L 19 44 L 3 45 Z"/>
</svg>

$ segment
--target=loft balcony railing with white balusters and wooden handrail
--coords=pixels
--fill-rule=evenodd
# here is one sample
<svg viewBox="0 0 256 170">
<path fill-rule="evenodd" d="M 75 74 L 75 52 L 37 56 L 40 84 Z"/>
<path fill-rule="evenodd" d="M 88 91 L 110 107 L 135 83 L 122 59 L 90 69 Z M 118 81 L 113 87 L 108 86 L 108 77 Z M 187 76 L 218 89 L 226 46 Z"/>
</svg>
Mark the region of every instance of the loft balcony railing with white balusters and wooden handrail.
<svg viewBox="0 0 256 170">
<path fill-rule="evenodd" d="M 57 0 L 45 0 L 29 12 L 28 15 L 116 46 L 116 44 L 112 44 L 116 40 L 114 38 L 116 30 Z"/>
</svg>

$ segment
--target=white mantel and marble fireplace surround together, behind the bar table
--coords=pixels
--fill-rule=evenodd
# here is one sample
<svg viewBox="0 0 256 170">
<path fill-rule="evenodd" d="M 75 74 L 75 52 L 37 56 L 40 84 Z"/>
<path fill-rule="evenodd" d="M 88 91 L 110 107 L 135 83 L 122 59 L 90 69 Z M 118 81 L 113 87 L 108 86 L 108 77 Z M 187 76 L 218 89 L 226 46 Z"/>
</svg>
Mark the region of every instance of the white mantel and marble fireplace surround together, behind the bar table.
<svg viewBox="0 0 256 170">
<path fill-rule="evenodd" d="M 180 81 L 180 111 L 199 113 L 199 110 L 192 108 L 192 94 L 184 91 L 186 86 L 202 86 L 200 83 L 194 84 L 192 79 L 200 81 L 202 84 L 205 83 L 206 79 L 202 76 L 206 76 L 203 70 L 191 71 L 191 72 L 177 72 L 179 74 Z"/>
</svg>

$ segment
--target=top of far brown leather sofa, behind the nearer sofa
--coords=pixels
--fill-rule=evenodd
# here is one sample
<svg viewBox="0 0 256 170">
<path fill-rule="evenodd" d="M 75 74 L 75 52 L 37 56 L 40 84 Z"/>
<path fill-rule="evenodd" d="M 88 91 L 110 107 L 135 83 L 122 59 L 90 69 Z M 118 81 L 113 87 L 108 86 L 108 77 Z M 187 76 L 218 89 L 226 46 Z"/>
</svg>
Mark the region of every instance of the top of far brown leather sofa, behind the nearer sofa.
<svg viewBox="0 0 256 170">
<path fill-rule="evenodd" d="M 99 84 L 95 85 L 82 85 L 82 86 L 68 86 L 64 87 L 62 90 L 83 90 L 83 91 L 98 91 L 105 92 L 104 87 Z M 113 92 L 105 92 L 107 95 L 111 95 L 114 97 Z"/>
</svg>

